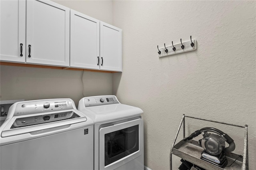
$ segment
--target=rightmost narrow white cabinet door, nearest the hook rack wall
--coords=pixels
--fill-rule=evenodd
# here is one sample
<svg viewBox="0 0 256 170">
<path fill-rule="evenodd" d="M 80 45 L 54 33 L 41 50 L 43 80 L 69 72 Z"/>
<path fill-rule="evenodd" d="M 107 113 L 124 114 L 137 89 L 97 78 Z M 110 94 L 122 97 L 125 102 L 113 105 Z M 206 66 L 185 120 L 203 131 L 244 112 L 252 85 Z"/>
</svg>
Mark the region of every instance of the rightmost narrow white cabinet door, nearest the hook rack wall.
<svg viewBox="0 0 256 170">
<path fill-rule="evenodd" d="M 122 71 L 122 30 L 100 22 L 100 69 Z"/>
</svg>

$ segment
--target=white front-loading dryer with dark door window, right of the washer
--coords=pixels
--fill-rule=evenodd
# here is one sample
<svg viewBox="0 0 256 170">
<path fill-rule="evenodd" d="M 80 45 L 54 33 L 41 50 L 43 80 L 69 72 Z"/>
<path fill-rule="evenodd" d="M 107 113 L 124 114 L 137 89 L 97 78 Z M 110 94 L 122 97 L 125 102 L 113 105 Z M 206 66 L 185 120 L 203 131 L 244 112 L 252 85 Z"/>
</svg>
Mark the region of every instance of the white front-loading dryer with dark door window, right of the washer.
<svg viewBox="0 0 256 170">
<path fill-rule="evenodd" d="M 140 108 L 111 95 L 84 97 L 78 110 L 94 121 L 94 170 L 144 170 Z"/>
</svg>

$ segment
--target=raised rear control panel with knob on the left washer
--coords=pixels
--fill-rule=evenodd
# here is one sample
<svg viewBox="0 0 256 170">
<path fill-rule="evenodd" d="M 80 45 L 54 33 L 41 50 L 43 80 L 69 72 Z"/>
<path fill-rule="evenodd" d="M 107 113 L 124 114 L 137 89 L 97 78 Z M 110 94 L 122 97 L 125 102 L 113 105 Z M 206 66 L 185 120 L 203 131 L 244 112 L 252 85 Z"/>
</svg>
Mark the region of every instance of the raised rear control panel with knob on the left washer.
<svg viewBox="0 0 256 170">
<path fill-rule="evenodd" d="M 64 111 L 74 109 L 70 100 L 42 100 L 33 102 L 18 103 L 14 111 L 14 116 L 30 115 L 37 113 L 47 113 L 53 111 Z M 47 119 L 47 118 L 45 118 Z"/>
</svg>

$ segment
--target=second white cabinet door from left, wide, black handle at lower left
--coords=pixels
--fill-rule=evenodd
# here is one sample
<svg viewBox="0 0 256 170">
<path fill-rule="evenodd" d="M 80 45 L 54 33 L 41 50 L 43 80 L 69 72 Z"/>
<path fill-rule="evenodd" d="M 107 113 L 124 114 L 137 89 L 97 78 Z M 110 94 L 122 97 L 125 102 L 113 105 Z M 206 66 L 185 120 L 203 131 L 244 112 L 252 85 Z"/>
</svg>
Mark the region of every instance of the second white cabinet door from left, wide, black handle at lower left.
<svg viewBox="0 0 256 170">
<path fill-rule="evenodd" d="M 49 0 L 27 1 L 26 62 L 69 66 L 70 9 Z"/>
</svg>

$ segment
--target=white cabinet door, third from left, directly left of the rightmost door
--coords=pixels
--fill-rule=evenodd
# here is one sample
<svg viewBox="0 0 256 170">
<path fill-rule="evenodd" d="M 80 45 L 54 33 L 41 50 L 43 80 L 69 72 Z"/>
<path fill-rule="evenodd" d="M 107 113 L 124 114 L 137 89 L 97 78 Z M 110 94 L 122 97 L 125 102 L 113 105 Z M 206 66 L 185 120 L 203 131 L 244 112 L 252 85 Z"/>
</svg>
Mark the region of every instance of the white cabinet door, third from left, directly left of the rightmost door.
<svg viewBox="0 0 256 170">
<path fill-rule="evenodd" d="M 70 67 L 100 69 L 100 21 L 70 11 Z"/>
</svg>

